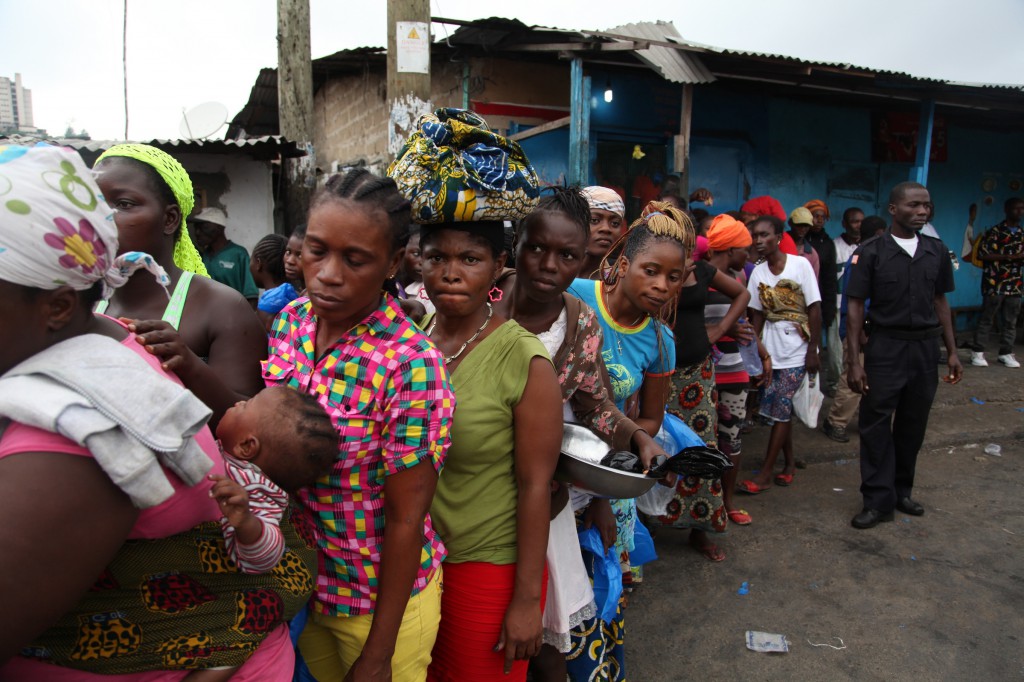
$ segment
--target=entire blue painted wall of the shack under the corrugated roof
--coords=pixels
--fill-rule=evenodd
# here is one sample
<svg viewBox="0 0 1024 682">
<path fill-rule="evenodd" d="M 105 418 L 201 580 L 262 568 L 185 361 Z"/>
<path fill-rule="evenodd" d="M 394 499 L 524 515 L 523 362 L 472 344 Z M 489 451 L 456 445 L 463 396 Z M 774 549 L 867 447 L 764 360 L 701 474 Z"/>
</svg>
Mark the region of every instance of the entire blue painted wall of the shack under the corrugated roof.
<svg viewBox="0 0 1024 682">
<path fill-rule="evenodd" d="M 588 75 L 594 93 L 592 161 L 602 139 L 666 144 L 671 152 L 681 86 L 641 71 L 609 75 L 593 70 Z M 609 79 L 614 93 L 610 103 L 602 97 Z M 888 111 L 906 104 L 879 100 L 874 105 Z M 825 200 L 833 213 L 826 229 L 833 236 L 842 231 L 840 218 L 850 206 L 888 218 L 889 189 L 909 177 L 910 165 L 871 161 L 871 113 L 867 105 L 830 104 L 827 94 L 815 101 L 723 83 L 696 86 L 690 185 L 715 194 L 715 212 L 737 209 L 746 198 L 759 195 L 775 197 L 787 211 L 811 199 Z M 937 115 L 943 115 L 941 106 Z M 1024 194 L 1010 188 L 1014 181 L 1024 182 L 1024 131 L 950 123 L 946 133 L 947 161 L 931 164 L 928 185 L 936 208 L 935 227 L 958 254 L 972 203 L 979 207 L 976 226 L 984 228 L 1001 219 L 1007 197 Z M 527 138 L 522 145 L 545 182 L 564 180 L 567 129 Z M 961 308 L 980 305 L 980 279 L 978 268 L 962 264 L 950 303 Z M 970 317 L 965 316 L 959 324 L 967 322 Z"/>
</svg>

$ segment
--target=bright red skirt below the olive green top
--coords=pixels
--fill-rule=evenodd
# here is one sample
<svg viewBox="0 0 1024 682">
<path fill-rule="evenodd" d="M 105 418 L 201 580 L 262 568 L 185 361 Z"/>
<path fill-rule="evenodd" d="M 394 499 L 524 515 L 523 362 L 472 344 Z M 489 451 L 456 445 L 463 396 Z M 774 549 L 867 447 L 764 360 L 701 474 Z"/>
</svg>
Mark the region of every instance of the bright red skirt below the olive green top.
<svg viewBox="0 0 1024 682">
<path fill-rule="evenodd" d="M 515 587 L 514 563 L 445 563 L 441 624 L 428 682 L 525 682 L 528 660 L 516 660 L 505 675 L 505 651 L 495 651 Z M 548 591 L 545 568 L 541 610 Z"/>
</svg>

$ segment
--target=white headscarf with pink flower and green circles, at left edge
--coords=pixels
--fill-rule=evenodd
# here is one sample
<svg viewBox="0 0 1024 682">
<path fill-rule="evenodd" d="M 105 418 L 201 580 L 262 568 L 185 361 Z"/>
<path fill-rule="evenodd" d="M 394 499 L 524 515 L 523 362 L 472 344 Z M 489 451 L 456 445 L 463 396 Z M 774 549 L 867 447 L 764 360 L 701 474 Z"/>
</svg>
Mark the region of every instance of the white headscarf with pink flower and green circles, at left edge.
<svg viewBox="0 0 1024 682">
<path fill-rule="evenodd" d="M 138 269 L 168 285 L 148 255 L 117 253 L 114 213 L 76 152 L 0 146 L 0 280 L 75 291 L 102 282 L 103 298 Z"/>
</svg>

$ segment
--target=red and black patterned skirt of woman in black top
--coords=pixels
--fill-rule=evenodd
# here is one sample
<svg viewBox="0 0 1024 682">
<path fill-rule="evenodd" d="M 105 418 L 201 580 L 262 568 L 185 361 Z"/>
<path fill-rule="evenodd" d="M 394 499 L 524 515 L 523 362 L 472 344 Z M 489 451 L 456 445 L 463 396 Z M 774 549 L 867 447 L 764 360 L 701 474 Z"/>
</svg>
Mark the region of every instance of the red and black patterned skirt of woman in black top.
<svg viewBox="0 0 1024 682">
<path fill-rule="evenodd" d="M 717 401 L 715 364 L 709 355 L 702 363 L 676 370 L 666 410 L 683 420 L 707 444 L 717 447 Z M 722 481 L 680 476 L 667 512 L 658 517 L 663 525 L 725 532 L 728 517 L 722 500 Z"/>
</svg>

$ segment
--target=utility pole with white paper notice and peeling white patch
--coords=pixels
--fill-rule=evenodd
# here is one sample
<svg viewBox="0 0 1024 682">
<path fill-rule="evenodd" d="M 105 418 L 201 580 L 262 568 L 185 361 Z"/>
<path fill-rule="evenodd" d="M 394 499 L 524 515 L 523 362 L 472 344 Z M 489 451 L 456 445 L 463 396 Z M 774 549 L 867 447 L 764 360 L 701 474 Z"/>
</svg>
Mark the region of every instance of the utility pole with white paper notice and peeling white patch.
<svg viewBox="0 0 1024 682">
<path fill-rule="evenodd" d="M 430 0 L 387 0 L 388 153 L 394 157 L 430 103 Z"/>
</svg>

